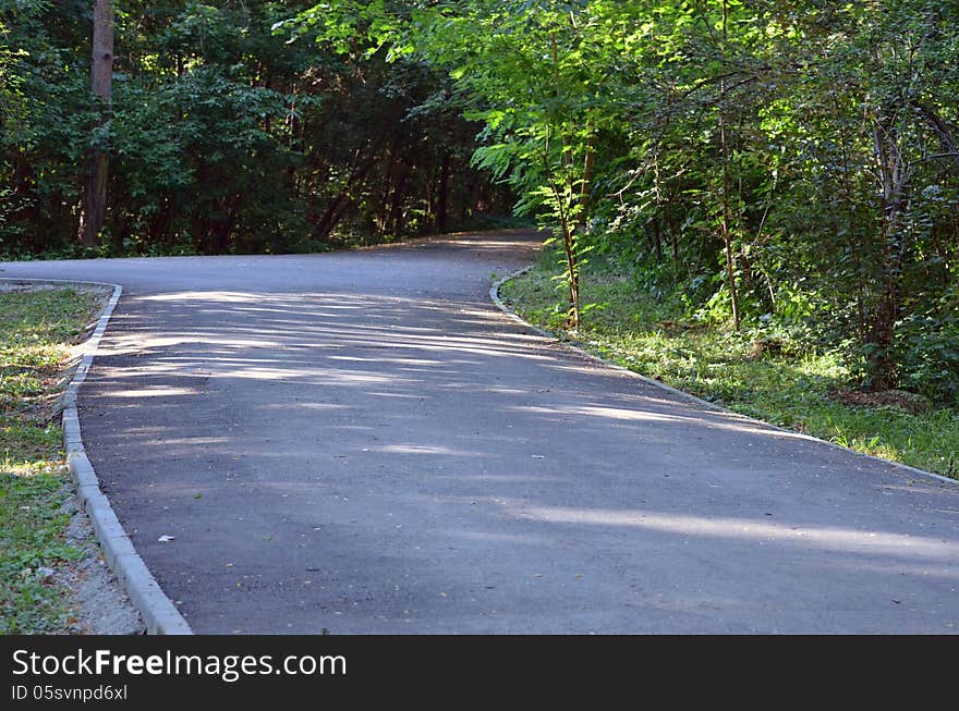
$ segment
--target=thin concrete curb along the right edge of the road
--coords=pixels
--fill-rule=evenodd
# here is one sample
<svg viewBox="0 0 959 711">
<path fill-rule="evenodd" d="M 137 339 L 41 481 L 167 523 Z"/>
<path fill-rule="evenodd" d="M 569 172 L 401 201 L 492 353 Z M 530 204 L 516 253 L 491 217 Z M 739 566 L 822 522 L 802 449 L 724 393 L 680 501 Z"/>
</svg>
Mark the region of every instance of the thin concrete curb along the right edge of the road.
<svg viewBox="0 0 959 711">
<path fill-rule="evenodd" d="M 715 403 L 711 403 L 711 402 L 703 400 L 701 397 L 696 397 L 695 395 L 691 395 L 690 393 L 683 392 L 682 390 L 677 390 L 676 388 L 672 388 L 671 385 L 667 385 L 666 383 L 659 382 L 658 380 L 647 378 L 646 376 L 640 375 L 639 372 L 635 372 L 634 370 L 630 370 L 629 368 L 623 368 L 622 366 L 620 366 L 616 363 L 610 363 L 606 358 L 603 358 L 603 357 L 597 356 L 593 353 L 590 353 L 588 351 L 583 350 L 582 347 L 578 346 L 575 343 L 573 343 L 571 341 L 566 341 L 566 340 L 557 336 L 556 333 L 545 331 L 541 328 L 533 326 L 532 323 L 529 323 L 527 321 L 523 320 L 523 318 L 521 318 L 515 311 L 513 311 L 509 306 L 507 306 L 502 302 L 502 299 L 499 297 L 499 290 L 506 282 L 510 281 L 511 279 L 515 279 L 517 277 L 522 277 L 531 269 L 533 269 L 532 266 L 524 267 L 522 269 L 518 269 L 517 271 L 514 271 L 510 274 L 507 274 L 506 277 L 503 277 L 502 279 L 497 281 L 489 289 L 489 298 L 493 301 L 494 304 L 496 304 L 497 308 L 499 308 L 499 310 L 502 311 L 509 319 L 511 319 L 512 321 L 515 321 L 517 323 L 519 323 L 523 328 L 536 333 L 537 335 L 542 335 L 543 338 L 549 339 L 551 341 L 556 341 L 558 343 L 562 343 L 570 351 L 573 351 L 574 353 L 578 353 L 581 356 L 584 356 L 595 363 L 603 364 L 604 366 L 606 366 L 612 370 L 616 370 L 618 372 L 621 372 L 623 375 L 630 376 L 632 378 L 638 378 L 638 379 L 642 380 L 643 382 L 646 382 L 651 385 L 655 385 L 659 390 L 665 390 L 666 392 L 671 393 L 671 394 L 673 394 L 682 400 L 685 400 L 688 402 L 694 403 L 694 404 L 699 405 L 700 407 L 704 407 L 704 408 L 711 409 L 713 412 L 732 415 L 733 417 L 740 418 L 744 421 L 753 422 L 755 425 L 762 425 L 763 427 L 768 427 L 775 431 L 787 433 L 794 439 L 805 440 L 809 442 L 817 442 L 820 444 L 826 444 L 828 446 L 831 446 L 833 449 L 842 450 L 845 452 L 849 452 L 849 453 L 854 454 L 859 457 L 871 459 L 873 462 L 879 462 L 882 464 L 891 466 L 896 469 L 900 469 L 902 471 L 908 471 L 909 474 L 914 474 L 918 476 L 927 477 L 927 478 L 934 479 L 936 481 L 939 481 L 940 483 L 949 483 L 952 486 L 959 486 L 959 480 L 957 480 L 957 479 L 950 479 L 948 477 L 944 477 L 938 474 L 933 474 L 932 471 L 926 471 L 924 469 L 911 467 L 908 464 L 901 464 L 899 462 L 891 462 L 889 459 L 883 459 L 882 457 L 873 456 L 872 454 L 857 452 L 855 450 L 851 450 L 848 446 L 842 446 L 841 444 L 837 444 L 836 442 L 829 442 L 828 440 L 821 440 L 820 438 L 813 437 L 811 434 L 804 434 L 802 432 L 797 432 L 796 430 L 790 430 L 790 429 L 786 429 L 785 427 L 779 427 L 778 425 L 772 425 L 769 422 L 764 422 L 763 420 L 756 419 L 754 417 L 749 417 L 748 415 L 740 415 L 739 413 L 733 413 L 732 410 L 726 409 L 725 407 L 719 407 Z"/>
</svg>

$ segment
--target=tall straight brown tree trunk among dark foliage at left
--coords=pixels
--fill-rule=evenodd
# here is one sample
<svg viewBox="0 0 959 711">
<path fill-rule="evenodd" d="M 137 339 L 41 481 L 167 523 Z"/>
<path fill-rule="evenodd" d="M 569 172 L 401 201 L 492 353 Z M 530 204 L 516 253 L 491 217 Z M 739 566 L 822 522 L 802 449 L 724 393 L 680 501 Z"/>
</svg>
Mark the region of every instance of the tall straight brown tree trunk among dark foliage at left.
<svg viewBox="0 0 959 711">
<path fill-rule="evenodd" d="M 100 103 L 97 125 L 104 125 L 113 95 L 113 8 L 109 0 L 97 0 L 94 7 L 94 51 L 90 65 L 93 94 Z M 80 214 L 78 240 L 85 247 L 94 247 L 107 218 L 107 156 L 92 151 L 87 159 L 87 180 Z"/>
</svg>

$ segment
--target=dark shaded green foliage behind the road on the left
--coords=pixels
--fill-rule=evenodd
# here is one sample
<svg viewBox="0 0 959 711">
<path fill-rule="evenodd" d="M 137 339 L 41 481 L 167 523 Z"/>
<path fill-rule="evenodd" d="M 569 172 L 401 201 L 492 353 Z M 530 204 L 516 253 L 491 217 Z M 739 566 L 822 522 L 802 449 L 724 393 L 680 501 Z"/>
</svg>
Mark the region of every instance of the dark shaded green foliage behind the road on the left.
<svg viewBox="0 0 959 711">
<path fill-rule="evenodd" d="M 90 3 L 3 5 L 0 256 L 92 254 L 74 235 L 93 149 L 110 174 L 100 256 L 316 252 L 508 212 L 470 168 L 477 127 L 446 105 L 449 82 L 317 44 L 308 24 L 289 42 L 308 4 L 118 5 L 102 125 Z"/>
</svg>

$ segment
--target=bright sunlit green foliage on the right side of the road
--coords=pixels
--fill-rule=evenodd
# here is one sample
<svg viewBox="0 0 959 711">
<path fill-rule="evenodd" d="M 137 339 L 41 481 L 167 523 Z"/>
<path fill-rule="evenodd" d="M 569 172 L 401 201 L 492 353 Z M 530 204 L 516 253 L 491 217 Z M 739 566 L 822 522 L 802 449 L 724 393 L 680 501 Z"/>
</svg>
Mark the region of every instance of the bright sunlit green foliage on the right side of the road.
<svg viewBox="0 0 959 711">
<path fill-rule="evenodd" d="M 951 9 L 473 0 L 412 16 L 409 45 L 486 125 L 476 164 L 563 243 L 561 280 L 592 247 L 688 317 L 738 311 L 838 348 L 876 390 L 955 402 Z"/>
</svg>

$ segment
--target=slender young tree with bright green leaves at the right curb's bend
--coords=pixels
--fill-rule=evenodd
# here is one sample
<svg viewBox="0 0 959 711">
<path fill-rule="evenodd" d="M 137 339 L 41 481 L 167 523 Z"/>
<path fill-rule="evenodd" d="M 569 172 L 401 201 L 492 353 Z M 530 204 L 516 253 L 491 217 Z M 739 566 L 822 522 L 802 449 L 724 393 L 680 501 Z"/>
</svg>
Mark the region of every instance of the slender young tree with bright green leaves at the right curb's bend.
<svg viewBox="0 0 959 711">
<path fill-rule="evenodd" d="M 428 3 L 425 3 L 428 4 Z M 412 47 L 449 72 L 486 124 L 474 162 L 520 194 L 562 246 L 567 323 L 579 326 L 596 140 L 611 111 L 604 82 L 615 3 L 466 1 L 413 14 Z"/>
</svg>

